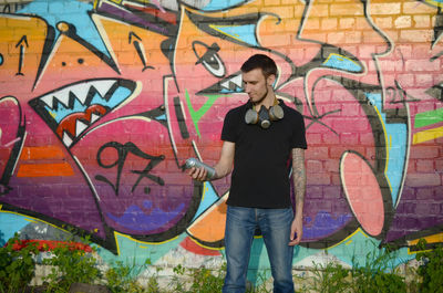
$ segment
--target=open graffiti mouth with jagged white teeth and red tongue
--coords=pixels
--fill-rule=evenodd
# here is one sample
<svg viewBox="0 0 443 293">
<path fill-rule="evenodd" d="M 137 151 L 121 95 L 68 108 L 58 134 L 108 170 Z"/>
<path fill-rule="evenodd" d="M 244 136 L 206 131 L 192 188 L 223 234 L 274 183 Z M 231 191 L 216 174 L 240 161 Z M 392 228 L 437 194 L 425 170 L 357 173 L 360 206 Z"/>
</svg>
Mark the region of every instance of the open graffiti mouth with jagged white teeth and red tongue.
<svg viewBox="0 0 443 293">
<path fill-rule="evenodd" d="M 101 117 L 125 102 L 135 90 L 127 80 L 91 80 L 71 84 L 30 101 L 66 147 Z"/>
</svg>

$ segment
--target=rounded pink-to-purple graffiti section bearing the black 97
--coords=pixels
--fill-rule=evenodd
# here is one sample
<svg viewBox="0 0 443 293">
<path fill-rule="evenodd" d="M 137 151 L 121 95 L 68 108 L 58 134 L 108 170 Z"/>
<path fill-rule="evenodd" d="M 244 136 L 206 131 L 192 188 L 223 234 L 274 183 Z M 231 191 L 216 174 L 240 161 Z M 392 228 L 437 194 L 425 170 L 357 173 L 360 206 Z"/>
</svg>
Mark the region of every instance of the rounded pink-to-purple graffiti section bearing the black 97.
<svg viewBox="0 0 443 293">
<path fill-rule="evenodd" d="M 133 116 L 102 124 L 72 154 L 91 180 L 105 221 L 120 232 L 165 232 L 189 210 L 192 180 L 176 165 L 167 129 L 156 121 Z"/>
</svg>

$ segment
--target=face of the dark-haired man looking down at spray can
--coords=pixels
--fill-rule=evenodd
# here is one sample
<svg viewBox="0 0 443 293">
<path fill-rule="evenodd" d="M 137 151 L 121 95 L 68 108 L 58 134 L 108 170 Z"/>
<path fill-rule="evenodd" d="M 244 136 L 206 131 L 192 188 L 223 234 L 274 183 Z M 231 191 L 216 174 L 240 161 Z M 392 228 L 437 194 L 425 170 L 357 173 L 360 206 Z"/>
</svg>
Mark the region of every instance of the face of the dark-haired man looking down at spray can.
<svg viewBox="0 0 443 293">
<path fill-rule="evenodd" d="M 260 103 L 265 100 L 272 85 L 272 75 L 265 77 L 261 69 L 243 72 L 243 86 L 248 94 L 250 102 Z"/>
</svg>

